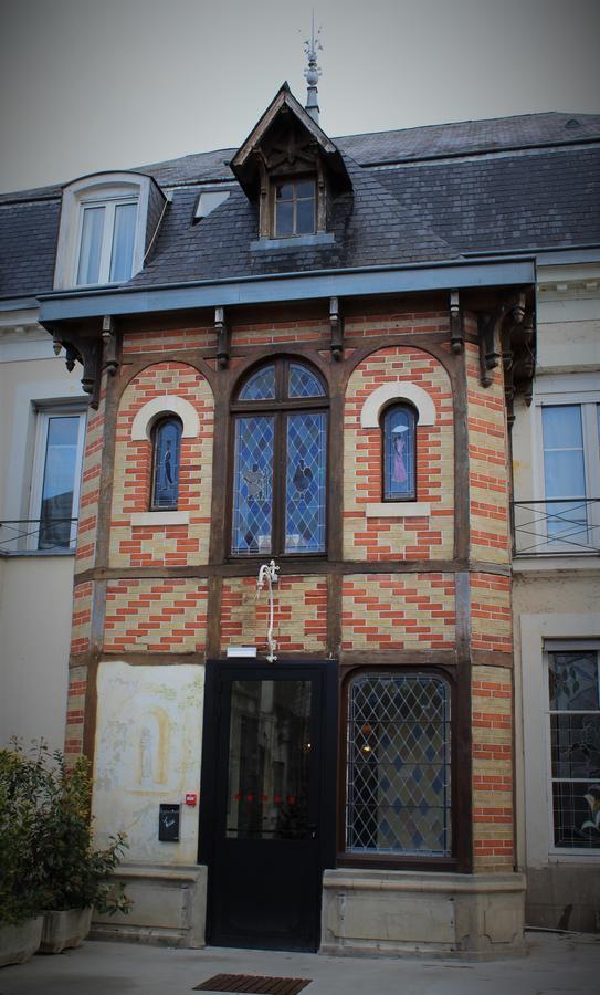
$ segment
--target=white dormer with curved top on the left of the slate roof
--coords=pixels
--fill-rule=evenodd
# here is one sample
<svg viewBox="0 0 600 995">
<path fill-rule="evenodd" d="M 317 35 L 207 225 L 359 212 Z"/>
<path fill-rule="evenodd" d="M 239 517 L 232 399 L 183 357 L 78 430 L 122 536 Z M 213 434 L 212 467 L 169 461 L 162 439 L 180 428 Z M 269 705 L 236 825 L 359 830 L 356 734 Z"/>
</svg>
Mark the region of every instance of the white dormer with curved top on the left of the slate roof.
<svg viewBox="0 0 600 995">
<path fill-rule="evenodd" d="M 141 172 L 97 172 L 63 188 L 54 290 L 126 283 L 147 258 L 166 198 Z"/>
</svg>

